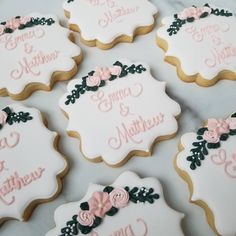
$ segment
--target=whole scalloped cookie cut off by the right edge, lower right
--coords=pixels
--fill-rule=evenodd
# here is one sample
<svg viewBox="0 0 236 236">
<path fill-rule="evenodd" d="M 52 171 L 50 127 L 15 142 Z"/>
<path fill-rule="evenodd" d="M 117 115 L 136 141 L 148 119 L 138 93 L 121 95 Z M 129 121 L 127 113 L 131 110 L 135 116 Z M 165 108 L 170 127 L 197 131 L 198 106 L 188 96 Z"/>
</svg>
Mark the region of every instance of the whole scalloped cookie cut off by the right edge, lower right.
<svg viewBox="0 0 236 236">
<path fill-rule="evenodd" d="M 219 235 L 236 235 L 236 113 L 181 139 L 176 169 Z"/>
</svg>

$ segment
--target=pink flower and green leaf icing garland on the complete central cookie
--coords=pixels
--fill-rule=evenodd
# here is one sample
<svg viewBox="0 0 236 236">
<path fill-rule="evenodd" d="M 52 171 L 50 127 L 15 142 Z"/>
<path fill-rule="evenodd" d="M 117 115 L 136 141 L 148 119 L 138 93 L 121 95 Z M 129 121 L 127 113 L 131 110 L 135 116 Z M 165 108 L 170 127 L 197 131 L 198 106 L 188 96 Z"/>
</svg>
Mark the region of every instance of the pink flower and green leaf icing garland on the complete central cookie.
<svg viewBox="0 0 236 236">
<path fill-rule="evenodd" d="M 112 67 L 96 67 L 95 71 L 91 71 L 87 76 L 82 77 L 82 83 L 76 84 L 75 89 L 71 91 L 71 94 L 67 96 L 65 102 L 66 105 L 70 103 L 74 104 L 76 99 L 84 94 L 86 91 L 97 91 L 99 87 L 103 87 L 106 81 L 112 81 L 117 78 L 122 78 L 130 74 L 139 73 L 146 71 L 142 65 L 131 66 L 123 65 L 121 62 L 117 61 Z"/>
</svg>

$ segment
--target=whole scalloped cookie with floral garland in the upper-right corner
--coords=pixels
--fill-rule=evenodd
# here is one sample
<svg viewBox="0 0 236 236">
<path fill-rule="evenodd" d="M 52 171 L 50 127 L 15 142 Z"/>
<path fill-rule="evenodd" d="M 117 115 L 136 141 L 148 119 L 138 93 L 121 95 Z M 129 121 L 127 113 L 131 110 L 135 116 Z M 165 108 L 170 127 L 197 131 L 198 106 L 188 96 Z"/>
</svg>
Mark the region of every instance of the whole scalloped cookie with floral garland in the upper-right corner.
<svg viewBox="0 0 236 236">
<path fill-rule="evenodd" d="M 157 43 L 185 82 L 211 86 L 236 79 L 236 18 L 232 11 L 206 4 L 164 18 Z"/>
</svg>

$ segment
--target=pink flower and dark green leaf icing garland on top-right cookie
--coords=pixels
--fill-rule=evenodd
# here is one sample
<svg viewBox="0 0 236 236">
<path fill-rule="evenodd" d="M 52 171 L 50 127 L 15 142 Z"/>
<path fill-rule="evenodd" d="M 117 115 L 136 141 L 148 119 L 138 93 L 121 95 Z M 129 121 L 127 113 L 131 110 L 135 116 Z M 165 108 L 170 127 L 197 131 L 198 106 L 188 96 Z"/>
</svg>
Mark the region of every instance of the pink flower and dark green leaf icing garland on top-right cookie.
<svg viewBox="0 0 236 236">
<path fill-rule="evenodd" d="M 195 20 L 199 20 L 201 18 L 205 18 L 209 15 L 216 16 L 225 16 L 230 17 L 233 16 L 233 13 L 224 10 L 224 9 L 214 9 L 211 8 L 209 4 L 205 4 L 203 7 L 192 6 L 184 9 L 180 14 L 174 15 L 174 22 L 167 29 L 167 32 L 170 36 L 177 34 L 180 28 L 186 23 L 192 23 Z"/>
</svg>

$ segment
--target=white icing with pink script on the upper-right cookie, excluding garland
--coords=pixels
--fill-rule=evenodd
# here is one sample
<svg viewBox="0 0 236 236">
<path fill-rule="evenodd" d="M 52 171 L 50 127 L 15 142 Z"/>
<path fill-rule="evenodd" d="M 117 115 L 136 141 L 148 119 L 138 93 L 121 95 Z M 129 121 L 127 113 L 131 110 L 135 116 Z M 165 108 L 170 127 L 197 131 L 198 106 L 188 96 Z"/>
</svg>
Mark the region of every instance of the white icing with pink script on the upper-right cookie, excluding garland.
<svg viewBox="0 0 236 236">
<path fill-rule="evenodd" d="M 167 29 L 173 21 L 174 17 L 164 18 L 163 26 L 157 31 L 157 37 L 168 43 L 165 56 L 178 58 L 185 75 L 193 76 L 199 73 L 205 80 L 211 81 L 221 71 L 236 72 L 234 15 L 225 17 L 211 14 L 184 24 L 177 34 L 170 36 Z"/>
</svg>

